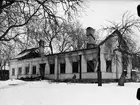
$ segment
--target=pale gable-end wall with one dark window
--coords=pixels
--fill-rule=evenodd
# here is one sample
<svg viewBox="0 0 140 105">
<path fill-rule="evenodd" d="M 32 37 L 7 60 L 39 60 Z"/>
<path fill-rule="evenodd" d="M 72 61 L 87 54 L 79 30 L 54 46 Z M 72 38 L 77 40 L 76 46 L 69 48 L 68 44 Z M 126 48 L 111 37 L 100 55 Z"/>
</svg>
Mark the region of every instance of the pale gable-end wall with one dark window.
<svg viewBox="0 0 140 105">
<path fill-rule="evenodd" d="M 110 37 L 100 46 L 101 72 L 104 79 L 119 79 L 122 73 L 121 52 L 115 50 L 118 46 L 118 36 Z M 111 60 L 112 72 L 106 72 L 106 59 Z"/>
</svg>

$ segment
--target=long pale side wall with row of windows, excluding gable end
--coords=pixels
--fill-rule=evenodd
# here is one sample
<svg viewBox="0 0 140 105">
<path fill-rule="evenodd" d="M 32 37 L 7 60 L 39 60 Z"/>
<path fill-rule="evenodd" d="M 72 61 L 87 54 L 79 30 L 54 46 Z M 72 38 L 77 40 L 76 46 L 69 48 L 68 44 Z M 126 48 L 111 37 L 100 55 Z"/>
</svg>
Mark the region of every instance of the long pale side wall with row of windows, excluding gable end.
<svg viewBox="0 0 140 105">
<path fill-rule="evenodd" d="M 97 57 L 97 50 L 83 50 L 78 52 L 70 52 L 65 54 L 60 54 L 59 56 L 64 56 L 66 62 L 66 71 L 65 74 L 60 74 L 60 62 L 59 56 L 54 55 L 55 59 L 55 74 L 50 74 L 49 62 L 48 57 L 43 59 L 36 58 L 36 59 L 27 59 L 27 60 L 11 60 L 10 63 L 10 78 L 21 78 L 21 77 L 31 77 L 31 76 L 38 76 L 39 73 L 39 64 L 46 63 L 45 66 L 45 77 L 49 79 L 71 79 L 75 74 L 77 79 L 79 78 L 79 73 L 72 73 L 72 61 L 76 60 L 75 57 L 81 55 L 81 70 L 82 70 L 82 78 L 97 78 L 97 73 L 87 73 L 87 59 L 93 59 Z M 88 56 L 87 56 L 88 55 Z M 37 74 L 32 75 L 32 66 L 36 66 Z M 25 67 L 29 66 L 29 74 L 25 75 Z M 22 67 L 22 74 L 18 75 L 18 68 Z M 15 68 L 15 75 L 12 76 L 12 68 Z M 96 68 L 97 69 L 97 68 Z M 95 70 L 96 71 L 96 70 Z"/>
</svg>

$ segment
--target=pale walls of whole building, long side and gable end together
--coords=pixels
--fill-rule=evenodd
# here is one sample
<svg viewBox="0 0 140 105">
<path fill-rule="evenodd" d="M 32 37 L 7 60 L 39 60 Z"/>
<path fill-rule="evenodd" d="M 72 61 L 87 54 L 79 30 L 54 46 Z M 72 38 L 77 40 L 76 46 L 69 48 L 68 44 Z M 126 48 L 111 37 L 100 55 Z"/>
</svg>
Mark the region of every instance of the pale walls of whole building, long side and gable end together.
<svg viewBox="0 0 140 105">
<path fill-rule="evenodd" d="M 105 45 L 103 44 L 101 46 L 101 72 L 102 72 L 102 78 L 103 79 L 118 79 L 122 73 L 122 65 L 121 65 L 121 53 L 116 51 L 116 54 L 119 57 L 119 64 L 116 65 L 114 61 L 112 61 L 112 72 L 107 73 L 106 72 L 106 62 L 105 62 L 105 57 L 104 57 L 104 48 Z M 66 69 L 65 69 L 65 74 L 60 73 L 60 62 L 58 56 L 64 56 L 65 58 L 65 63 L 66 63 Z M 72 73 L 72 60 L 71 57 L 75 57 L 78 55 L 81 55 L 81 70 L 82 70 L 82 79 L 97 79 L 97 68 L 95 72 L 88 73 L 87 72 L 87 60 L 88 59 L 93 59 L 97 58 L 97 49 L 91 49 L 91 50 L 82 50 L 82 51 L 77 51 L 77 52 L 70 52 L 70 53 L 63 53 L 60 55 L 54 55 L 55 57 L 55 74 L 50 74 L 50 68 L 49 68 L 49 62 L 48 58 L 36 58 L 36 59 L 28 59 L 28 60 L 12 60 L 10 64 L 10 78 L 17 78 L 17 70 L 18 67 L 22 67 L 22 77 L 26 76 L 31 76 L 32 75 L 32 66 L 36 66 L 36 76 L 40 75 L 39 74 L 39 64 L 41 63 L 46 63 L 45 66 L 45 77 L 49 79 L 72 79 L 73 75 L 76 74 L 77 79 L 79 79 L 79 73 Z M 88 55 L 88 56 L 87 56 Z M 29 75 L 25 75 L 25 67 L 27 65 L 30 65 L 30 73 Z M 131 64 L 130 64 L 131 66 Z M 129 70 L 131 67 L 128 67 Z M 12 76 L 12 68 L 16 69 L 16 75 Z M 59 75 L 58 75 L 59 74 Z M 34 75 L 35 76 L 35 75 Z"/>
</svg>

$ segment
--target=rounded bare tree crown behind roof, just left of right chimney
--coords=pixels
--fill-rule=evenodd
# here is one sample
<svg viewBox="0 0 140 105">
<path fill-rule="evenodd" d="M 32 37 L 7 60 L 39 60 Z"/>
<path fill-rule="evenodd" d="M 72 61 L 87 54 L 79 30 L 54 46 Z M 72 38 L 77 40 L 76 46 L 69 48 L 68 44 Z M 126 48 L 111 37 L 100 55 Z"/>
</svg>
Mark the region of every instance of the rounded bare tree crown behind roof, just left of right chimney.
<svg viewBox="0 0 140 105">
<path fill-rule="evenodd" d="M 86 41 L 85 31 L 78 21 L 62 24 L 58 42 L 60 52 L 83 49 L 86 47 Z"/>
</svg>

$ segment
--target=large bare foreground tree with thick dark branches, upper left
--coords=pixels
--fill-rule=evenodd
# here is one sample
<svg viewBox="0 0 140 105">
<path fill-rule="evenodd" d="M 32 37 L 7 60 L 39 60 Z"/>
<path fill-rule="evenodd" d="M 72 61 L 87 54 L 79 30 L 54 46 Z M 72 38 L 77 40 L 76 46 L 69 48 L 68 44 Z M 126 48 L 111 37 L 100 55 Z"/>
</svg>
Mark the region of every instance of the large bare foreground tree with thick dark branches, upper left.
<svg viewBox="0 0 140 105">
<path fill-rule="evenodd" d="M 42 24 L 38 24 L 39 20 L 44 22 L 47 19 L 47 22 L 53 21 L 57 25 L 58 20 L 63 20 L 63 16 L 58 14 L 59 10 L 62 10 L 65 16 L 72 17 L 82 3 L 82 0 L 0 0 L 1 61 L 5 62 L 11 57 L 9 45 L 14 53 L 33 45 L 37 46 L 42 35 L 42 31 L 37 30 L 42 27 Z M 34 35 L 30 35 L 29 32 L 32 31 Z M 32 41 L 31 36 L 34 39 Z"/>
</svg>

